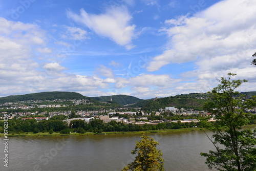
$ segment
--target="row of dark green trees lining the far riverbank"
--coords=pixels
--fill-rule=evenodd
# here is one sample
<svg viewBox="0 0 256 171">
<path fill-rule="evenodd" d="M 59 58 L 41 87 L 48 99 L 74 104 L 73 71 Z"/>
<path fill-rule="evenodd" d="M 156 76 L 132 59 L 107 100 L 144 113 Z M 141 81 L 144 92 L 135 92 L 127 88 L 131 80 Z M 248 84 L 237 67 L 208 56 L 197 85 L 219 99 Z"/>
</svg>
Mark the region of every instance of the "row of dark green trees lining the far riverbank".
<svg viewBox="0 0 256 171">
<path fill-rule="evenodd" d="M 69 133 L 69 132 L 78 132 L 78 133 L 86 133 L 86 132 L 133 132 L 133 131 L 148 131 L 148 130 L 165 130 L 165 129 L 181 129 L 186 127 L 194 127 L 200 126 L 200 122 L 186 122 L 178 123 L 170 122 L 170 123 L 158 123 L 156 125 L 152 124 L 125 124 L 123 122 L 111 121 L 108 123 L 103 122 L 102 120 L 96 119 L 90 121 L 90 123 L 84 122 L 81 119 L 72 120 L 70 125 L 63 121 L 65 119 L 62 116 L 52 117 L 49 120 L 41 120 L 36 121 L 36 119 L 26 119 L 25 121 L 22 119 L 13 119 L 8 120 L 8 133 L 26 133 L 26 132 L 49 132 L 50 130 L 54 132 L 60 133 Z M 4 122 L 0 122 L 1 133 L 4 133 Z"/>
</svg>

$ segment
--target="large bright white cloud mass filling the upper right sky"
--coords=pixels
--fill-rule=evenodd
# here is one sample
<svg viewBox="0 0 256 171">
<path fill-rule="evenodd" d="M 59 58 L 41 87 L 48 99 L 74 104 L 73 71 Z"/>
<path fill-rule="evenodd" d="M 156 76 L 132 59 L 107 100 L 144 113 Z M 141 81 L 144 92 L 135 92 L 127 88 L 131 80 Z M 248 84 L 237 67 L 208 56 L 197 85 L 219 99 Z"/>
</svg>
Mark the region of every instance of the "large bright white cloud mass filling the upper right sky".
<svg viewBox="0 0 256 171">
<path fill-rule="evenodd" d="M 256 42 L 254 7 L 255 1 L 226 0 L 192 17 L 166 20 L 167 26 L 160 30 L 169 38 L 166 50 L 153 58 L 147 70 L 189 61 L 209 72 L 248 68 Z"/>
</svg>

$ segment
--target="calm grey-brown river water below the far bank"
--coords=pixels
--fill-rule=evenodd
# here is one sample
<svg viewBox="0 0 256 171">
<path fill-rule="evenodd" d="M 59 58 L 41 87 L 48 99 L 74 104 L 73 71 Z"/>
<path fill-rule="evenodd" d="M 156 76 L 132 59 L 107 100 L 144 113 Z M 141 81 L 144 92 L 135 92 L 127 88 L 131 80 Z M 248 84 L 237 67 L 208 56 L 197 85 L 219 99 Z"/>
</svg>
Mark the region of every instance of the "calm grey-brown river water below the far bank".
<svg viewBox="0 0 256 171">
<path fill-rule="evenodd" d="M 209 134 L 211 134 L 209 132 Z M 146 134 L 159 142 L 165 170 L 209 170 L 200 152 L 214 149 L 203 131 Z M 1 137 L 0 170 L 121 170 L 141 134 L 10 137 L 8 167 Z"/>
</svg>

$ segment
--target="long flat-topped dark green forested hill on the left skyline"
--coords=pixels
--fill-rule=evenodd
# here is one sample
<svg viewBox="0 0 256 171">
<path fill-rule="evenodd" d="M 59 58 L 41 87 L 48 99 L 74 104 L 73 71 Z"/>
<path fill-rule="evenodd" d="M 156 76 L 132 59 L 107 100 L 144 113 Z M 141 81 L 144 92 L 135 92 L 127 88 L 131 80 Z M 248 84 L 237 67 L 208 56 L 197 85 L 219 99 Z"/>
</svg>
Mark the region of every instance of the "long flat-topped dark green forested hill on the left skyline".
<svg viewBox="0 0 256 171">
<path fill-rule="evenodd" d="M 0 102 L 26 101 L 26 100 L 54 100 L 54 99 L 91 99 L 91 98 L 75 92 L 41 92 L 41 93 L 1 97 Z"/>
</svg>

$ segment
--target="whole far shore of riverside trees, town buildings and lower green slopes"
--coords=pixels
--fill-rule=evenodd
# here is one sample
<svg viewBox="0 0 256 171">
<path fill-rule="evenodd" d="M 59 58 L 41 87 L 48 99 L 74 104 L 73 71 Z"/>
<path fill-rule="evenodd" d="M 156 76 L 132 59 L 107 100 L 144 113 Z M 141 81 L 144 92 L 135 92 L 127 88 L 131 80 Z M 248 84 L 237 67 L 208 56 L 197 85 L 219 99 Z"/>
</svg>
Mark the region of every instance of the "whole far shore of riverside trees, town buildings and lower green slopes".
<svg viewBox="0 0 256 171">
<path fill-rule="evenodd" d="M 173 103 L 172 101 L 175 100 L 178 106 L 163 105 Z M 207 97 L 204 93 L 178 95 L 175 98 L 156 97 L 146 101 L 142 107 L 134 105 L 134 102 L 121 105 L 112 98 L 109 101 L 93 98 L 15 100 L 0 104 L 0 120 L 4 117 L 8 119 L 9 134 L 181 129 L 201 127 L 205 121 L 218 120 L 215 115 L 204 111 L 201 107 L 205 100 Z M 162 108 L 158 109 L 156 106 Z M 255 114 L 256 108 L 248 109 L 246 112 Z M 254 124 L 255 119 L 252 118 L 250 123 Z M 3 133 L 4 129 L 0 129 L 0 132 Z"/>
</svg>

